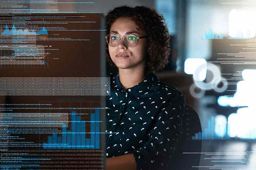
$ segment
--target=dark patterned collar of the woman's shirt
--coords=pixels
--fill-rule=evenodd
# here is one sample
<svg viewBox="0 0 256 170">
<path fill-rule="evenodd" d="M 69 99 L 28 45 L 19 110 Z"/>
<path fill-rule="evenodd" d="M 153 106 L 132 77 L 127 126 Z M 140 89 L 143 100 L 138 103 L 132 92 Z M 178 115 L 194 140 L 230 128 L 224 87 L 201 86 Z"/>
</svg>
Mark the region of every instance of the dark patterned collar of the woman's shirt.
<svg viewBox="0 0 256 170">
<path fill-rule="evenodd" d="M 119 73 L 116 74 L 113 81 L 114 81 L 114 88 L 116 88 L 120 91 L 123 90 L 124 93 L 129 92 L 129 93 L 133 94 L 134 96 L 139 97 L 142 94 L 147 93 L 148 89 L 151 86 L 156 85 L 158 83 L 159 79 L 155 72 L 150 72 L 150 73 L 148 73 L 148 75 L 145 76 L 145 79 L 142 80 L 142 82 L 140 82 L 139 84 L 137 84 L 131 88 L 127 88 L 126 90 L 123 87 L 122 83 L 120 82 Z"/>
</svg>

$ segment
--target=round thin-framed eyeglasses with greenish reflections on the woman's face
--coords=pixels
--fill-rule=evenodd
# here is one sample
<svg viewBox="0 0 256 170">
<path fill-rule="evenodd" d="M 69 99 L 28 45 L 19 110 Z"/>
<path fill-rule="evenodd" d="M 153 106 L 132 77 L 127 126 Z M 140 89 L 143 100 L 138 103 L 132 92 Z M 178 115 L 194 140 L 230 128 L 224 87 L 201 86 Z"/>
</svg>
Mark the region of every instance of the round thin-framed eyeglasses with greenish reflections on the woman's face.
<svg viewBox="0 0 256 170">
<path fill-rule="evenodd" d="M 138 37 L 137 35 L 134 35 L 134 34 L 127 34 L 124 37 L 119 37 L 117 34 L 113 34 L 113 33 L 105 36 L 108 45 L 110 45 L 111 47 L 117 47 L 120 39 L 123 39 L 123 43 L 126 46 L 135 47 L 139 39 L 146 38 L 146 37 L 147 36 Z"/>
</svg>

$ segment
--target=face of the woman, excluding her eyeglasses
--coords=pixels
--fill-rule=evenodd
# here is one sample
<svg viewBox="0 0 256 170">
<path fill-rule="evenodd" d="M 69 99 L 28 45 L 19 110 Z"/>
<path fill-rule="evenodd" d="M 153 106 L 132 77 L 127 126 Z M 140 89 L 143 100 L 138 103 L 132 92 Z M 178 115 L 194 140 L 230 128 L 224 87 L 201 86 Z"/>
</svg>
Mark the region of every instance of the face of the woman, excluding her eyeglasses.
<svg viewBox="0 0 256 170">
<path fill-rule="evenodd" d="M 124 37 L 131 32 L 139 37 L 146 35 L 144 30 L 138 31 L 136 28 L 139 26 L 133 20 L 120 17 L 111 25 L 110 33 L 117 34 L 119 37 Z M 117 47 L 108 46 L 109 55 L 119 69 L 134 69 L 136 67 L 143 67 L 144 69 L 146 49 L 147 38 L 139 39 L 135 47 L 126 46 L 123 39 L 120 39 Z"/>
</svg>

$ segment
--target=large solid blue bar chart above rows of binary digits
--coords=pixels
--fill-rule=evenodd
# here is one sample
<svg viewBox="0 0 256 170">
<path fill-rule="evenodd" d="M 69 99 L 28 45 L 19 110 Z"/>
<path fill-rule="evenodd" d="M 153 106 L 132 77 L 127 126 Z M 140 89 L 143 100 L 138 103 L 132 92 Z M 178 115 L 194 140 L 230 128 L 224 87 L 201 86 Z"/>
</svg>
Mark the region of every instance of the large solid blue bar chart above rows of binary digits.
<svg viewBox="0 0 256 170">
<path fill-rule="evenodd" d="M 90 113 L 90 121 L 82 121 L 81 115 L 71 112 L 71 128 L 62 124 L 61 133 L 48 136 L 44 149 L 100 149 L 100 111 Z M 86 138 L 86 123 L 90 123 L 90 138 Z M 60 135 L 60 136 L 59 136 Z"/>
</svg>

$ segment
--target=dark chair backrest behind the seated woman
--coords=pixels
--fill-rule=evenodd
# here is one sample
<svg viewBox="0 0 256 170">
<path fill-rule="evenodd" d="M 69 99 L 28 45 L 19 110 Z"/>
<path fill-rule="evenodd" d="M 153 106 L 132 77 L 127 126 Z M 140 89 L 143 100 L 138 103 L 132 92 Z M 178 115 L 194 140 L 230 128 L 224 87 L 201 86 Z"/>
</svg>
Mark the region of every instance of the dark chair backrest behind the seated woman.
<svg viewBox="0 0 256 170">
<path fill-rule="evenodd" d="M 183 116 L 183 134 L 179 139 L 176 151 L 171 159 L 170 168 L 172 170 L 198 169 L 195 167 L 192 168 L 192 166 L 199 166 L 201 159 L 202 140 L 192 139 L 192 136 L 198 132 L 202 132 L 199 116 L 192 107 L 186 105 Z"/>
</svg>

